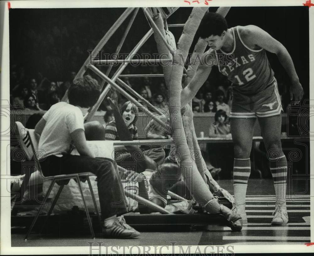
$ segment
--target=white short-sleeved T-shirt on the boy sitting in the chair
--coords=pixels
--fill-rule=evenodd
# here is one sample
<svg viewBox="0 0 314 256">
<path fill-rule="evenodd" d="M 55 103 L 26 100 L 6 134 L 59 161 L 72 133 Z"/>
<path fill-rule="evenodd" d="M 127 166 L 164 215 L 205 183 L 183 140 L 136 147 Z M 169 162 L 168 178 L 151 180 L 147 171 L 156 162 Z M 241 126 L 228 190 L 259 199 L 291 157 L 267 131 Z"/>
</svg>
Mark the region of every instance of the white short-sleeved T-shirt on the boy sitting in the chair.
<svg viewBox="0 0 314 256">
<path fill-rule="evenodd" d="M 67 102 L 58 102 L 50 107 L 43 116 L 46 125 L 39 139 L 39 148 L 45 156 L 67 154 L 70 149 L 70 133 L 84 130 L 84 117 L 79 107 Z"/>
</svg>

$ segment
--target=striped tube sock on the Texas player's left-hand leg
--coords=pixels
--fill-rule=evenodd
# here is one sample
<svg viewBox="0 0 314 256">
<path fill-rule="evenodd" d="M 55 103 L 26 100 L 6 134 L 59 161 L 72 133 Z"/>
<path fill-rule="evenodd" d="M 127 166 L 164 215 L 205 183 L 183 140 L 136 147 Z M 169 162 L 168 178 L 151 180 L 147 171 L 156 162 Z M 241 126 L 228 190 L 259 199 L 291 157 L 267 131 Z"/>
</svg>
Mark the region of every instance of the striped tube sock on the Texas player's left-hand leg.
<svg viewBox="0 0 314 256">
<path fill-rule="evenodd" d="M 245 204 L 247 181 L 251 173 L 251 161 L 247 159 L 234 160 L 233 165 L 233 188 L 235 194 L 235 204 Z"/>
</svg>

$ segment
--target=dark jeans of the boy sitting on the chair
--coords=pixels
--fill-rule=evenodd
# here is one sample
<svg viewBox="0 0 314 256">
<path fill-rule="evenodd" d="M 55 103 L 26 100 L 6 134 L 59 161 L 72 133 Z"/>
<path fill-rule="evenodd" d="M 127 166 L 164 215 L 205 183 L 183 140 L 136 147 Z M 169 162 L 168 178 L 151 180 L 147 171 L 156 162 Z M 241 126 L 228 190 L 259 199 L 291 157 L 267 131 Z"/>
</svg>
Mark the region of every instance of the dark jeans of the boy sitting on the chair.
<svg viewBox="0 0 314 256">
<path fill-rule="evenodd" d="M 92 172 L 97 176 L 101 219 L 127 212 L 124 190 L 116 162 L 103 157 L 50 155 L 40 161 L 44 176 Z"/>
</svg>

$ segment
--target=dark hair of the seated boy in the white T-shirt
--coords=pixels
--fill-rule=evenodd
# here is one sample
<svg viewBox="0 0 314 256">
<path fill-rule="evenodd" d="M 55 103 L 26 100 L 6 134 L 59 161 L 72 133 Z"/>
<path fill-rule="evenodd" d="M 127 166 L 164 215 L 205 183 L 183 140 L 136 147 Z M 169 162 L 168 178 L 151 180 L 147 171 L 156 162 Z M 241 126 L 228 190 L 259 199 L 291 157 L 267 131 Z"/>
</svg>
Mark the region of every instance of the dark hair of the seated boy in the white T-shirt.
<svg viewBox="0 0 314 256">
<path fill-rule="evenodd" d="M 68 90 L 69 103 L 74 106 L 92 107 L 100 96 L 99 85 L 96 79 L 86 75 L 75 79 Z"/>
</svg>

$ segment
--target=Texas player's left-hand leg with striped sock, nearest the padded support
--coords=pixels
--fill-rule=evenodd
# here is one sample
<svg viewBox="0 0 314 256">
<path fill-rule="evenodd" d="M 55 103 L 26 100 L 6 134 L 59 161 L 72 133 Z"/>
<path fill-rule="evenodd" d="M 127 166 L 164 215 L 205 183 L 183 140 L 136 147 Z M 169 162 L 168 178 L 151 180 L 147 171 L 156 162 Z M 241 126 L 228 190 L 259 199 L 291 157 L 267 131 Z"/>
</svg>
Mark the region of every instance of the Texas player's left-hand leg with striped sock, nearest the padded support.
<svg viewBox="0 0 314 256">
<path fill-rule="evenodd" d="M 233 188 L 236 213 L 240 214 L 242 223 L 247 223 L 245 197 L 247 181 L 251 173 L 250 154 L 256 117 L 230 118 L 231 135 L 234 143 Z"/>
</svg>

